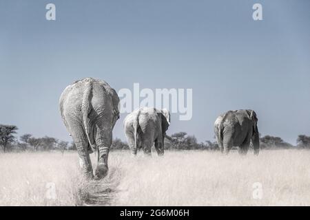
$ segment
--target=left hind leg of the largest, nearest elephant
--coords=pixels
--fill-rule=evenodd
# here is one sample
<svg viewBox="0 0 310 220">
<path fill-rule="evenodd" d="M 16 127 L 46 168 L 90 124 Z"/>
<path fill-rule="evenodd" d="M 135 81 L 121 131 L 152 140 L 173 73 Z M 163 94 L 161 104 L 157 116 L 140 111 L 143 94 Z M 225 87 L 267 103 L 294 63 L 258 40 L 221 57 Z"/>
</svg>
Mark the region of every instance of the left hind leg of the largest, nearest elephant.
<svg viewBox="0 0 310 220">
<path fill-rule="evenodd" d="M 77 131 L 72 132 L 72 139 L 76 146 L 76 151 L 79 154 L 79 162 L 82 172 L 87 178 L 92 179 L 92 162 L 90 160 L 90 154 L 87 151 L 88 140 L 82 128 L 75 129 Z"/>
</svg>

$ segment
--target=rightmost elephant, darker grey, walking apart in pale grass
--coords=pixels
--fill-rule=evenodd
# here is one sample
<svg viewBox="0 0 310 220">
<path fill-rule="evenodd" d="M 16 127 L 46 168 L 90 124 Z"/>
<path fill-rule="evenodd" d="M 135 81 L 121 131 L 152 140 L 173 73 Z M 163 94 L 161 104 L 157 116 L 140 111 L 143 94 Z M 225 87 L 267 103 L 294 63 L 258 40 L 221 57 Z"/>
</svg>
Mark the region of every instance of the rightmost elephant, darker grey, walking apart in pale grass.
<svg viewBox="0 0 310 220">
<path fill-rule="evenodd" d="M 251 109 L 227 111 L 218 116 L 214 123 L 214 133 L 220 151 L 228 154 L 232 146 L 239 146 L 238 152 L 246 155 L 252 142 L 254 154 L 258 155 L 260 140 L 257 122 L 256 113 Z"/>
</svg>

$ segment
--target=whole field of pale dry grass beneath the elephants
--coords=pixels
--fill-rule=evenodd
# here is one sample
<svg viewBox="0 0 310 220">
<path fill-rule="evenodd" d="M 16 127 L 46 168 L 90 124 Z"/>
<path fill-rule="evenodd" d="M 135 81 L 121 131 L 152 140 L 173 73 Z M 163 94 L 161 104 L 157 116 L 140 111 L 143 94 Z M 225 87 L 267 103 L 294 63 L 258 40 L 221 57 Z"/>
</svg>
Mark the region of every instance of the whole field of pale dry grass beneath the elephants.
<svg viewBox="0 0 310 220">
<path fill-rule="evenodd" d="M 112 152 L 109 175 L 85 181 L 76 152 L 1 153 L 0 206 L 310 206 L 309 158 L 301 150 Z"/>
</svg>

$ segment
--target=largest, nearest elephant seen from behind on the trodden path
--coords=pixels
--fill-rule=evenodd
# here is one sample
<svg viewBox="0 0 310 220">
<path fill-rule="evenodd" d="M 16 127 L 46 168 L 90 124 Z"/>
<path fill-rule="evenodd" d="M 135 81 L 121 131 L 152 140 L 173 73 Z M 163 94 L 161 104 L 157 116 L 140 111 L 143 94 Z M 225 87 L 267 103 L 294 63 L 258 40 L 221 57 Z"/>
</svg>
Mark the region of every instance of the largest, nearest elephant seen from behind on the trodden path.
<svg viewBox="0 0 310 220">
<path fill-rule="evenodd" d="M 90 153 L 97 151 L 95 179 L 107 175 L 112 130 L 119 118 L 119 98 L 103 80 L 84 78 L 65 88 L 59 100 L 61 117 L 79 153 L 80 166 L 94 177 Z"/>
</svg>

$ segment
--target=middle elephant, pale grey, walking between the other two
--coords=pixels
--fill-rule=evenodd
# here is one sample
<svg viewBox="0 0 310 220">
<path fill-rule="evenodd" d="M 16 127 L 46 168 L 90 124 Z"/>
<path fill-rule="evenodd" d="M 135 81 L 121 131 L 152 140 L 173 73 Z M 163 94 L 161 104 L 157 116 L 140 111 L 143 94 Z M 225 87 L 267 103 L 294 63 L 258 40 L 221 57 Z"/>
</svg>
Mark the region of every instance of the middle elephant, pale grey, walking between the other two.
<svg viewBox="0 0 310 220">
<path fill-rule="evenodd" d="M 158 155 L 163 155 L 165 133 L 169 124 L 170 113 L 167 109 L 143 107 L 127 115 L 124 129 L 132 154 L 136 155 L 138 149 L 143 148 L 146 155 L 151 155 L 154 143 Z"/>
</svg>

